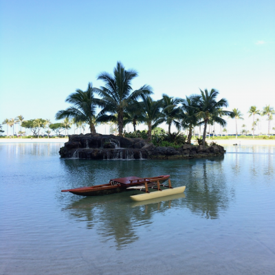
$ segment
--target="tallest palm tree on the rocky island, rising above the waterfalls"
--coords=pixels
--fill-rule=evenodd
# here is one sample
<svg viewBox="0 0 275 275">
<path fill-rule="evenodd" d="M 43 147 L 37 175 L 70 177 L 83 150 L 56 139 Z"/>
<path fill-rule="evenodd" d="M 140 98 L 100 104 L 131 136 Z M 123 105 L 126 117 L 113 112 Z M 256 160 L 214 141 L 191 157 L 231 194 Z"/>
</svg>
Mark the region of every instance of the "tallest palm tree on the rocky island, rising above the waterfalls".
<svg viewBox="0 0 275 275">
<path fill-rule="evenodd" d="M 98 89 L 98 94 L 102 96 L 104 108 L 100 112 L 100 122 L 115 122 L 115 113 L 118 114 L 118 134 L 123 133 L 123 118 L 126 109 L 133 100 L 137 100 L 141 95 L 152 94 L 152 89 L 148 85 L 133 91 L 131 81 L 137 77 L 137 72 L 133 69 L 126 70 L 122 63 L 118 62 L 113 69 L 113 76 L 107 72 L 102 72 L 98 80 L 104 82 L 104 87 Z M 111 113 L 111 115 L 107 115 Z"/>
</svg>

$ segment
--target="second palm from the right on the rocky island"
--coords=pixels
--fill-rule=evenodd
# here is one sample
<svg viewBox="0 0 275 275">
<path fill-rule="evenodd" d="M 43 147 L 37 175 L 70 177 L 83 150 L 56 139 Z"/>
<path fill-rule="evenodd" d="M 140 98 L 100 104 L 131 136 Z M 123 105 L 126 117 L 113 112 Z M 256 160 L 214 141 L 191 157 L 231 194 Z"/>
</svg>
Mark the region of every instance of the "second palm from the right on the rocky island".
<svg viewBox="0 0 275 275">
<path fill-rule="evenodd" d="M 188 129 L 187 143 L 191 143 L 192 129 L 199 125 L 199 118 L 197 117 L 198 100 L 195 96 L 186 96 L 186 99 L 181 100 L 182 107 L 179 113 L 181 127 Z"/>
</svg>

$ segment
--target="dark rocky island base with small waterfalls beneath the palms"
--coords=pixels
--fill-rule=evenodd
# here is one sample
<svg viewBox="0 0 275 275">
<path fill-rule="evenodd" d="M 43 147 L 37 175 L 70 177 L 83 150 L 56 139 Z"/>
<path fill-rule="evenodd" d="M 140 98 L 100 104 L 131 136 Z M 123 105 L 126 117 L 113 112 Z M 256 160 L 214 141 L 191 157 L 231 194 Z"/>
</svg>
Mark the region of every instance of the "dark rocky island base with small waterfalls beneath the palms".
<svg viewBox="0 0 275 275">
<path fill-rule="evenodd" d="M 219 145 L 157 147 L 142 138 L 80 134 L 70 135 L 59 153 L 61 157 L 81 159 L 184 159 L 223 155 L 225 150 Z"/>
</svg>

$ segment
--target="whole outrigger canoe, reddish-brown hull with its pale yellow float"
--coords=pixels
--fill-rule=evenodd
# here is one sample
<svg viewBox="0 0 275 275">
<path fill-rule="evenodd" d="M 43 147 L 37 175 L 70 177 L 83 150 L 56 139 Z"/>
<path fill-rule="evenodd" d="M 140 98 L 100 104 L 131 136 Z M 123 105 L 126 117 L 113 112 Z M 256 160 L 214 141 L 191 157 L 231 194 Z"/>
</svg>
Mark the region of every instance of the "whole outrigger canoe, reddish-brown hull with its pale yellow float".
<svg viewBox="0 0 275 275">
<path fill-rule="evenodd" d="M 173 188 L 169 177 L 170 175 L 162 175 L 159 177 L 120 177 L 118 179 L 110 179 L 109 184 L 67 189 L 61 190 L 61 192 L 71 192 L 72 194 L 80 196 L 107 195 L 130 190 L 140 190 L 145 192 L 144 194 L 130 196 L 133 201 L 144 201 L 146 199 L 164 197 L 184 192 L 185 186 Z M 163 184 L 167 179 L 168 186 Z M 161 186 L 167 189 L 161 189 Z M 149 192 L 148 188 L 157 191 Z"/>
</svg>

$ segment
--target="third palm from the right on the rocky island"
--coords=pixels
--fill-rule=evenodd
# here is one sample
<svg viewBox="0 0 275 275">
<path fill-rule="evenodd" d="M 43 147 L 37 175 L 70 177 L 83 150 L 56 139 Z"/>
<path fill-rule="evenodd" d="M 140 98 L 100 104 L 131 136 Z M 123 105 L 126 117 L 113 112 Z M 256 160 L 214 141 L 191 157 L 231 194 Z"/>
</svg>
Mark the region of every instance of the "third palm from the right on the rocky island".
<svg viewBox="0 0 275 275">
<path fill-rule="evenodd" d="M 181 99 L 173 98 L 167 96 L 166 94 L 163 94 L 162 100 L 164 102 L 162 113 L 164 113 L 165 122 L 166 124 L 168 124 L 168 133 L 170 134 L 172 124 L 175 124 L 177 129 L 180 128 L 180 124 L 177 119 L 179 118 L 179 113 L 181 112 L 181 109 L 177 107 L 177 104 L 181 102 Z"/>
</svg>

